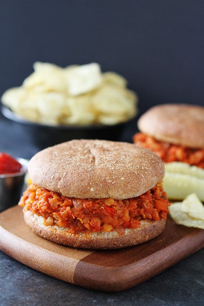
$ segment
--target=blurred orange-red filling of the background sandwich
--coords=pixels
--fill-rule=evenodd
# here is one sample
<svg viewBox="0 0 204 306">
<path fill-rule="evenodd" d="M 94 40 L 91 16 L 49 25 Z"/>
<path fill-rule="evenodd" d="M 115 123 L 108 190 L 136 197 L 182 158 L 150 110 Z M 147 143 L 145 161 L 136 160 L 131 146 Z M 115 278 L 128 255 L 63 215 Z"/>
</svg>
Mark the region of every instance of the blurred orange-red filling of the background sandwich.
<svg viewBox="0 0 204 306">
<path fill-rule="evenodd" d="M 204 169 L 204 149 L 192 149 L 158 141 L 143 133 L 136 133 L 133 136 L 133 142 L 154 151 L 165 163 L 180 161 Z"/>
</svg>

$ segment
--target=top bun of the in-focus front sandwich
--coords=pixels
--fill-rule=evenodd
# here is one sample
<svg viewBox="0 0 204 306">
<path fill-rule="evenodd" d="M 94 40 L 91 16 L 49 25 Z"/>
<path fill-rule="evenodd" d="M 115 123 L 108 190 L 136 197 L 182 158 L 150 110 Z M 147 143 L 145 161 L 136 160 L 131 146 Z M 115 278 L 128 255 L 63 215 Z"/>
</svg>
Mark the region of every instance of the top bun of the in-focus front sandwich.
<svg viewBox="0 0 204 306">
<path fill-rule="evenodd" d="M 35 185 L 63 196 L 123 200 L 161 181 L 164 164 L 135 144 L 81 139 L 38 152 L 30 159 L 28 172 Z"/>
</svg>

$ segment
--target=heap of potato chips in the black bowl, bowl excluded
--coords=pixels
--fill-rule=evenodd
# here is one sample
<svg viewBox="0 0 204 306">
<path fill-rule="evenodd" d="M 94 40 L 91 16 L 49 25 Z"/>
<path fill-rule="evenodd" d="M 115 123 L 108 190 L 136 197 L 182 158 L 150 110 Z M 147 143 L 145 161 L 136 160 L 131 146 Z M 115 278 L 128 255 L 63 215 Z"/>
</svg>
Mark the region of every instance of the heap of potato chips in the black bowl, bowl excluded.
<svg viewBox="0 0 204 306">
<path fill-rule="evenodd" d="M 65 68 L 35 62 L 22 86 L 8 89 L 1 101 L 27 120 L 46 125 L 114 125 L 137 114 L 137 94 L 115 72 L 99 64 Z"/>
</svg>

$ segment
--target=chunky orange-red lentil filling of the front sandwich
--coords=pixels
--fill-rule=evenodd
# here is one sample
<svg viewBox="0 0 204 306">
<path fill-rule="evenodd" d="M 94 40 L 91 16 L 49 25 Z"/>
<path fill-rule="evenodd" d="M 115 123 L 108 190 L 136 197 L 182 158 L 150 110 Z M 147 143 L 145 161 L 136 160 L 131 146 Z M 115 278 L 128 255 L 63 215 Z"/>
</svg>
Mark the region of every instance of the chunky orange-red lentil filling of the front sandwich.
<svg viewBox="0 0 204 306">
<path fill-rule="evenodd" d="M 44 217 L 45 225 L 65 227 L 73 234 L 116 230 L 122 235 L 125 228 L 140 227 L 140 220 L 166 219 L 169 205 L 161 183 L 136 198 L 114 200 L 69 198 L 29 180 L 19 201 L 24 211 Z"/>
</svg>

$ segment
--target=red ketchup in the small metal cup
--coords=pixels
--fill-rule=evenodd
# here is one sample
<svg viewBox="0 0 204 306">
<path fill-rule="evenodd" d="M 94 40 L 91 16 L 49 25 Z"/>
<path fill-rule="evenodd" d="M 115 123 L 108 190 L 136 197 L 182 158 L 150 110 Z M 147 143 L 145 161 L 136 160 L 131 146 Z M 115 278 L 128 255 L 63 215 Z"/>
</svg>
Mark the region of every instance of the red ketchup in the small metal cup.
<svg viewBox="0 0 204 306">
<path fill-rule="evenodd" d="M 0 152 L 0 174 L 20 172 L 22 165 L 7 153 Z"/>
</svg>

